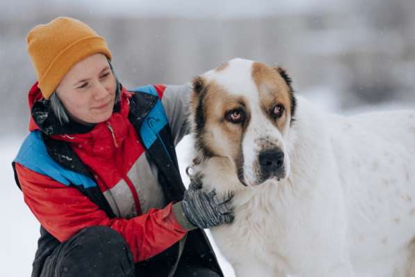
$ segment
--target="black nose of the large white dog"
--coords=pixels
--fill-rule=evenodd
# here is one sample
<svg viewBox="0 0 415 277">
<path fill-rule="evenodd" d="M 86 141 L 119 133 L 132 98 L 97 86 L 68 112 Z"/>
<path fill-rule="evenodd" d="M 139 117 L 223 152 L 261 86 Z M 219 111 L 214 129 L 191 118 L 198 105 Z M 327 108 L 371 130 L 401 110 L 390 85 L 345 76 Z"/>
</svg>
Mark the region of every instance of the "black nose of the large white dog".
<svg viewBox="0 0 415 277">
<path fill-rule="evenodd" d="M 261 151 L 258 159 L 263 179 L 268 179 L 272 175 L 284 175 L 284 152 L 278 148 Z"/>
</svg>

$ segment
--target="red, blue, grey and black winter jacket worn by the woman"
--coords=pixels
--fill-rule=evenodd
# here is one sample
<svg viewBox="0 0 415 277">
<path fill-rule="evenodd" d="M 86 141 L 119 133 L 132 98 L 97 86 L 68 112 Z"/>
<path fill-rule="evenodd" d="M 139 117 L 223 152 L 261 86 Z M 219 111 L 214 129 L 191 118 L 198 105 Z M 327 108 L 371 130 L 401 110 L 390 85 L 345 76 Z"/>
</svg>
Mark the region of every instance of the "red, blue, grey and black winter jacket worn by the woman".
<svg viewBox="0 0 415 277">
<path fill-rule="evenodd" d="M 172 212 L 185 190 L 174 146 L 188 133 L 189 91 L 122 88 L 112 116 L 87 127 L 58 124 L 38 84 L 31 88 L 31 132 L 13 168 L 42 225 L 33 276 L 60 242 L 92 225 L 120 232 L 138 264 L 167 262 L 167 273 L 183 252 L 181 259 L 222 274 L 204 232 L 187 232 Z"/>
</svg>

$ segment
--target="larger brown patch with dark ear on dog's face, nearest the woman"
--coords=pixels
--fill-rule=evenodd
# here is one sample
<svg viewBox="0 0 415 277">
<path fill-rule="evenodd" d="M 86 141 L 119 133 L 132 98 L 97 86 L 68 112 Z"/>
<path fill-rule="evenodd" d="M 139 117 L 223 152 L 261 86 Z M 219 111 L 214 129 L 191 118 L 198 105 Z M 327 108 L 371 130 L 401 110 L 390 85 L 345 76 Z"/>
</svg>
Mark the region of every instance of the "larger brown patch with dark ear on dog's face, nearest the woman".
<svg viewBox="0 0 415 277">
<path fill-rule="evenodd" d="M 215 81 L 206 84 L 206 80 L 199 77 L 194 80 L 194 88 L 198 84 L 202 84 L 202 88 L 199 92 L 194 90 L 190 100 L 197 136 L 196 147 L 206 157 L 229 157 L 236 165 L 241 166 L 241 143 L 250 120 L 246 100 L 243 96 L 231 95 Z M 229 121 L 234 115 L 243 116 L 243 120 Z"/>
</svg>

